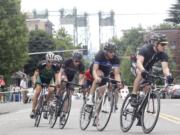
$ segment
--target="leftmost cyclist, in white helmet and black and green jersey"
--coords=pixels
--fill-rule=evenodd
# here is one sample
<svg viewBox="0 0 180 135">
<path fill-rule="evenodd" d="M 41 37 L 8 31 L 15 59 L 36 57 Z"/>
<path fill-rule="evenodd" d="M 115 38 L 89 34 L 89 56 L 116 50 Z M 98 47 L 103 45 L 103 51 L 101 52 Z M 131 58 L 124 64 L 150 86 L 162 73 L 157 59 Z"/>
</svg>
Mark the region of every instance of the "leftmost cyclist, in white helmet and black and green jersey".
<svg viewBox="0 0 180 135">
<path fill-rule="evenodd" d="M 46 83 L 48 84 L 48 95 L 47 95 L 47 99 L 51 94 L 51 91 L 53 90 L 53 85 L 55 85 L 55 81 L 57 81 L 58 78 L 56 78 L 56 74 L 58 73 L 58 66 L 53 64 L 54 61 L 54 53 L 52 52 L 48 52 L 46 54 L 46 60 L 45 61 L 41 61 L 35 72 L 34 75 L 32 77 L 32 82 L 33 84 L 35 84 L 35 93 L 33 96 L 33 102 L 32 102 L 32 112 L 30 113 L 30 117 L 34 118 L 35 116 L 35 108 L 37 105 L 37 100 L 39 97 L 39 94 L 42 90 L 42 83 Z M 55 80 L 54 80 L 55 78 Z"/>
</svg>

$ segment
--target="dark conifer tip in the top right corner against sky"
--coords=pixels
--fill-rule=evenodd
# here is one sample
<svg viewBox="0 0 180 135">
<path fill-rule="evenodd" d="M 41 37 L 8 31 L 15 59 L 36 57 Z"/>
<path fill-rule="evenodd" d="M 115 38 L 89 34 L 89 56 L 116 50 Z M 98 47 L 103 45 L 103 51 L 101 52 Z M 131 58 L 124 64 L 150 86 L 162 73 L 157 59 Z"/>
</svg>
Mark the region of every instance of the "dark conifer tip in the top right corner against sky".
<svg viewBox="0 0 180 135">
<path fill-rule="evenodd" d="M 172 4 L 169 10 L 169 18 L 165 19 L 167 22 L 171 22 L 174 25 L 180 23 L 180 0 L 177 0 L 176 4 Z"/>
</svg>

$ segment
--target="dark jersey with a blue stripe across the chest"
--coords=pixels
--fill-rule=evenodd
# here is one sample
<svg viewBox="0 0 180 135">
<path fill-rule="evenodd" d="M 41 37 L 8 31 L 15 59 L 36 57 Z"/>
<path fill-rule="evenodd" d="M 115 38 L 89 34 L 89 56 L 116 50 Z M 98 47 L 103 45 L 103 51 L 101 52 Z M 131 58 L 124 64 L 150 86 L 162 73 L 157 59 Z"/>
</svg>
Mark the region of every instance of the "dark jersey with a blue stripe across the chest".
<svg viewBox="0 0 180 135">
<path fill-rule="evenodd" d="M 99 51 L 95 56 L 94 62 L 90 66 L 90 73 L 92 75 L 93 64 L 98 64 L 99 69 L 104 73 L 104 76 L 108 76 L 113 67 L 119 67 L 120 59 L 115 55 L 113 59 L 107 59 L 104 51 Z"/>
</svg>

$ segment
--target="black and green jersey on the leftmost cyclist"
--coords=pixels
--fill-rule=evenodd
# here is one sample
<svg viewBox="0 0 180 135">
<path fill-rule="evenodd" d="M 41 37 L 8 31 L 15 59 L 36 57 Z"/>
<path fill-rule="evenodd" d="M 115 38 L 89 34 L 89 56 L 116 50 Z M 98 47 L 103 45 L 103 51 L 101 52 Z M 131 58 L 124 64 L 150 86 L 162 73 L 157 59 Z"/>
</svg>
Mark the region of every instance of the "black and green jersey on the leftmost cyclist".
<svg viewBox="0 0 180 135">
<path fill-rule="evenodd" d="M 47 83 L 50 84 L 52 79 L 54 80 L 54 75 L 59 71 L 59 67 L 55 64 L 52 64 L 50 69 L 46 68 L 46 62 L 41 61 L 37 69 L 39 70 L 39 77 L 37 78 L 36 83 Z"/>
</svg>

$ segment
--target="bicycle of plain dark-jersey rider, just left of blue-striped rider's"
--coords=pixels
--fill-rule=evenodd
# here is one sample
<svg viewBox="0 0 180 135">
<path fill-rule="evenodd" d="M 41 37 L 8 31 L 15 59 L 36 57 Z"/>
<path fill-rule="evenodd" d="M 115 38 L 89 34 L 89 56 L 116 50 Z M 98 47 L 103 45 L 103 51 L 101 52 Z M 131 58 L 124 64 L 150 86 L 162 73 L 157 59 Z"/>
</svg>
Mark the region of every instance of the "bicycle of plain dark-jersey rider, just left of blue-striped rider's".
<svg viewBox="0 0 180 135">
<path fill-rule="evenodd" d="M 49 124 L 51 128 L 53 128 L 56 124 L 58 117 L 59 128 L 63 129 L 65 127 L 71 110 L 71 92 L 73 91 L 71 86 L 82 87 L 81 85 L 68 81 L 62 81 L 62 83 L 65 83 L 65 87 L 63 88 L 60 96 L 57 98 L 56 104 L 51 105 L 49 110 Z"/>
</svg>

